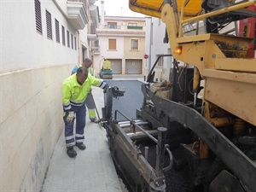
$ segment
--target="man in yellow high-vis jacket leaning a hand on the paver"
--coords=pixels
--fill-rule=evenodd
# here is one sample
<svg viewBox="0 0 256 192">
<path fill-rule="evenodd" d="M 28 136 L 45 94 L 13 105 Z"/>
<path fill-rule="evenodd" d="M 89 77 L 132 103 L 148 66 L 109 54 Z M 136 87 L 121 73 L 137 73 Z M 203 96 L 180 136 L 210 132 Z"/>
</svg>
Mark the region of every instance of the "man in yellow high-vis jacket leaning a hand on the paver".
<svg viewBox="0 0 256 192">
<path fill-rule="evenodd" d="M 65 79 L 61 86 L 62 105 L 64 110 L 65 141 L 67 155 L 75 157 L 77 152 L 73 149 L 77 146 L 84 150 L 84 126 L 85 126 L 85 100 L 90 93 L 91 86 L 101 87 L 103 90 L 108 88 L 102 79 L 96 79 L 88 73 L 86 67 L 79 67 L 74 73 Z M 73 134 L 74 119 L 76 119 L 76 135 Z"/>
</svg>

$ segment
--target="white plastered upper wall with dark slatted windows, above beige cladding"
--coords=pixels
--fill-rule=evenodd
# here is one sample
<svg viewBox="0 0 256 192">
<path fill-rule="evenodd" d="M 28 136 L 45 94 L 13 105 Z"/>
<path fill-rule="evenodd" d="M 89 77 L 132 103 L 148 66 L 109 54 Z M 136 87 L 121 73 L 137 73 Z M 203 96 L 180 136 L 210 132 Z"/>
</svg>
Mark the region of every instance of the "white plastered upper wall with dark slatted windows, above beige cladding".
<svg viewBox="0 0 256 192">
<path fill-rule="evenodd" d="M 55 41 L 55 18 L 77 36 L 77 32 L 52 1 L 41 1 L 43 35 L 36 32 L 34 1 L 3 1 L 1 73 L 38 66 L 73 63 L 78 51 L 64 47 Z M 45 9 L 51 13 L 53 40 L 46 37 Z M 61 32 L 60 25 L 60 32 Z M 65 34 L 66 34 L 65 32 Z M 66 42 L 67 44 L 67 42 Z"/>
</svg>

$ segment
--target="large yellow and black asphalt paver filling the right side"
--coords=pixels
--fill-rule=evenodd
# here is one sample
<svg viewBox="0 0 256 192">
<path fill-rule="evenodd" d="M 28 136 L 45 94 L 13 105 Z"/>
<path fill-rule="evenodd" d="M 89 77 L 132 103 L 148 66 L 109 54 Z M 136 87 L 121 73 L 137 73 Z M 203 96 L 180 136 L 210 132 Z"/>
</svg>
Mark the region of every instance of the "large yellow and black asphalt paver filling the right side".
<svg viewBox="0 0 256 192">
<path fill-rule="evenodd" d="M 173 57 L 170 96 L 152 90 L 153 67 L 142 85 L 137 119 L 112 112 L 113 97 L 124 91 L 105 93 L 102 125 L 129 191 L 255 192 L 255 37 L 247 37 L 248 26 L 243 37 L 222 33 L 231 22 L 255 19 L 255 1 L 130 0 L 129 5 L 163 20 Z M 184 36 L 183 26 L 200 20 L 206 32 Z M 117 120 L 118 113 L 126 120 Z"/>
</svg>

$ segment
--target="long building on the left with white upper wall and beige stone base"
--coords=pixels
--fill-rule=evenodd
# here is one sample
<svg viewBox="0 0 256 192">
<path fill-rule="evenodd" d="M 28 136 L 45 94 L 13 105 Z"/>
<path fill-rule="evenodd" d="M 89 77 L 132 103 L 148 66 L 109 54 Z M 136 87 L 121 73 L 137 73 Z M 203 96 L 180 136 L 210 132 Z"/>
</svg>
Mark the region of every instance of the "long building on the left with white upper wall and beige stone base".
<svg viewBox="0 0 256 192">
<path fill-rule="evenodd" d="M 0 191 L 41 189 L 64 127 L 61 83 L 92 54 L 94 2 L 1 1 Z"/>
</svg>

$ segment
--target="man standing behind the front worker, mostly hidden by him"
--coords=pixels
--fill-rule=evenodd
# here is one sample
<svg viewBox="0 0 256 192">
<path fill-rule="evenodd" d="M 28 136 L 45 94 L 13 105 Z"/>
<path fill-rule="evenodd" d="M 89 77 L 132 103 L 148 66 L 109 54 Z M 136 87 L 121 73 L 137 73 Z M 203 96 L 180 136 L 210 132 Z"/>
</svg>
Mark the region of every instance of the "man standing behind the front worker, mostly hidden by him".
<svg viewBox="0 0 256 192">
<path fill-rule="evenodd" d="M 90 58 L 85 58 L 81 66 L 75 66 L 73 67 L 72 73 L 77 73 L 77 70 L 79 67 L 86 67 L 88 69 L 88 73 L 92 76 L 93 75 L 93 69 L 91 68 L 92 61 Z M 93 97 L 90 89 L 90 93 L 88 94 L 85 105 L 88 108 L 88 113 L 89 113 L 89 119 L 94 122 L 94 123 L 99 123 L 99 120 L 96 118 L 96 107 L 95 103 L 93 102 Z"/>
</svg>

